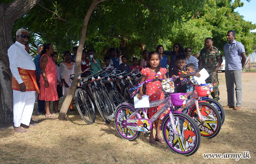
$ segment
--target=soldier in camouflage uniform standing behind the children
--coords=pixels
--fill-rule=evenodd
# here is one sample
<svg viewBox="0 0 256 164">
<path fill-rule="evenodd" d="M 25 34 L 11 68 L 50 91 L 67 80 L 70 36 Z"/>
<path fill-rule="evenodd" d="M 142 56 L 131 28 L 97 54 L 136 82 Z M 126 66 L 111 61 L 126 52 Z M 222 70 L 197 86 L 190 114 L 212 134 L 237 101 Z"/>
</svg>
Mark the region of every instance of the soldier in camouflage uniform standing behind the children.
<svg viewBox="0 0 256 164">
<path fill-rule="evenodd" d="M 211 92 L 212 97 L 215 100 L 219 100 L 219 81 L 218 81 L 218 68 L 222 63 L 222 55 L 219 48 L 212 47 L 212 39 L 206 38 L 204 41 L 204 45 L 206 46 L 200 52 L 199 58 L 199 68 L 204 68 L 209 73 L 210 77 L 206 79 L 206 83 L 213 84 L 213 91 Z M 218 65 L 217 65 L 218 63 Z"/>
</svg>

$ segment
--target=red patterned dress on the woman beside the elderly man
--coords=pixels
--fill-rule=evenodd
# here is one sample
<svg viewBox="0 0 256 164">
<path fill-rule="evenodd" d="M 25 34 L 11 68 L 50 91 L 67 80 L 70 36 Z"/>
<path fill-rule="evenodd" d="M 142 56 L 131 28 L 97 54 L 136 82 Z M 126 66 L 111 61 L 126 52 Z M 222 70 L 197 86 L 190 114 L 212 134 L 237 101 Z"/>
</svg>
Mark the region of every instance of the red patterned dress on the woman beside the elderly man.
<svg viewBox="0 0 256 164">
<path fill-rule="evenodd" d="M 49 82 L 49 87 L 45 87 L 45 79 L 40 75 L 40 92 L 39 94 L 39 100 L 44 101 L 56 101 L 59 100 L 58 94 L 57 94 L 57 69 L 56 65 L 53 62 L 53 60 L 46 54 L 41 56 L 41 59 L 43 56 L 47 56 L 48 62 L 45 67 L 45 74 Z M 41 59 L 40 59 L 40 68 L 41 68 Z"/>
</svg>

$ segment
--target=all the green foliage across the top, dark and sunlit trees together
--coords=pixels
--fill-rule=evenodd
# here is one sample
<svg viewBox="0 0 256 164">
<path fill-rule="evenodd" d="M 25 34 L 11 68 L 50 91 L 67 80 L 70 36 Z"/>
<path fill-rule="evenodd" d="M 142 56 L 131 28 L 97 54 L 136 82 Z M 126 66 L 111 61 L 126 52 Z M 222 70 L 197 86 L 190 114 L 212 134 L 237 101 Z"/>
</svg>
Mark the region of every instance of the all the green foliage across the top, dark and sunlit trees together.
<svg viewBox="0 0 256 164">
<path fill-rule="evenodd" d="M 14 39 L 18 28 L 26 28 L 34 37 L 29 40 L 34 55 L 38 45 L 51 43 L 61 62 L 61 54 L 65 50 L 72 52 L 79 43 L 83 19 L 91 3 L 92 0 L 41 0 L 16 21 Z M 118 48 L 131 63 L 134 56 L 142 58 L 143 48 L 152 51 L 158 44 L 172 50 L 173 44 L 180 42 L 184 48 L 191 47 L 192 53 L 199 52 L 206 37 L 212 37 L 213 45 L 223 50 L 227 31 L 235 30 L 236 39 L 250 54 L 256 47 L 255 34 L 250 30 L 256 27 L 234 12 L 242 6 L 240 0 L 109 0 L 93 11 L 84 48 L 94 50 L 102 63 L 110 47 Z"/>
</svg>

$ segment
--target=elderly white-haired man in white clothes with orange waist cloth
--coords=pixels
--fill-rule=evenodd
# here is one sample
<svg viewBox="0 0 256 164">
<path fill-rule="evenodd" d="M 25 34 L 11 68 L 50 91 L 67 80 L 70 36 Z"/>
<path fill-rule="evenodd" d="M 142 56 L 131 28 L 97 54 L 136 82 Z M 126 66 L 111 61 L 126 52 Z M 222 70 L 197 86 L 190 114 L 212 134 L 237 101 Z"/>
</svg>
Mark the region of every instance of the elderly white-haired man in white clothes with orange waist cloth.
<svg viewBox="0 0 256 164">
<path fill-rule="evenodd" d="M 16 42 L 8 49 L 12 72 L 14 132 L 18 133 L 27 132 L 22 127 L 34 126 L 30 125 L 30 120 L 35 104 L 35 91 L 40 94 L 35 64 L 25 50 L 28 39 L 28 31 L 21 28 L 16 32 Z"/>
</svg>

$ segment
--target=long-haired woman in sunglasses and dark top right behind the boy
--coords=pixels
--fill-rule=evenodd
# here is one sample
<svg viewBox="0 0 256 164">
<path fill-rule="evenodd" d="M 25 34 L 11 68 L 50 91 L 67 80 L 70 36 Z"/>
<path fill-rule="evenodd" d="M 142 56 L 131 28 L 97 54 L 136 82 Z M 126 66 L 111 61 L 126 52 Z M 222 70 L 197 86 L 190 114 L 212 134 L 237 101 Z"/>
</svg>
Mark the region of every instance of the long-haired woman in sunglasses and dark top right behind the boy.
<svg viewBox="0 0 256 164">
<path fill-rule="evenodd" d="M 172 77 L 174 73 L 174 69 L 176 68 L 175 62 L 176 62 L 176 56 L 178 55 L 184 55 L 184 49 L 183 46 L 180 43 L 174 43 L 173 44 L 173 51 L 164 51 L 164 55 L 169 55 L 171 58 L 170 65 L 169 65 L 169 77 Z"/>
</svg>

